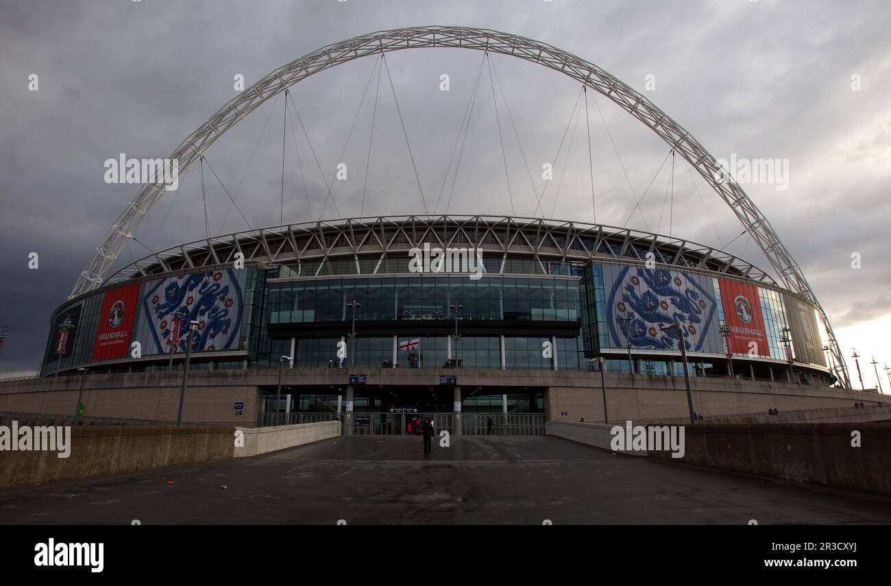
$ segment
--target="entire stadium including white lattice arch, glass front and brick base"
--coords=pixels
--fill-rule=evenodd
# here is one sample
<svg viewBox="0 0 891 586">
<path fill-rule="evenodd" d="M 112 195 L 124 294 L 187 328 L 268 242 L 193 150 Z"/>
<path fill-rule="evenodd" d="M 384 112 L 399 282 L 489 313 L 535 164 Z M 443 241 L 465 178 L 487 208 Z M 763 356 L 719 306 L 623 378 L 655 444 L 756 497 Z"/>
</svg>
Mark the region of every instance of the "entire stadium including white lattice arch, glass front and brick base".
<svg viewBox="0 0 891 586">
<path fill-rule="evenodd" d="M 168 188 L 157 178 L 127 203 L 53 313 L 40 376 L 0 384 L 0 410 L 239 425 L 337 418 L 362 434 L 398 433 L 408 414 L 431 413 L 456 432 L 495 416 L 543 433 L 552 420 L 884 400 L 851 388 L 800 267 L 717 159 L 646 96 L 552 45 L 454 27 L 347 39 L 251 85 L 169 159 L 181 172 L 203 169 L 220 135 L 274 96 L 287 108 L 299 81 L 432 47 L 534 62 L 601 94 L 666 142 L 673 166 L 677 155 L 708 183 L 770 272 L 676 235 L 430 213 L 417 168 L 423 215 L 208 234 L 119 268 L 120 250 Z M 282 210 L 283 175 L 282 148 Z"/>
</svg>

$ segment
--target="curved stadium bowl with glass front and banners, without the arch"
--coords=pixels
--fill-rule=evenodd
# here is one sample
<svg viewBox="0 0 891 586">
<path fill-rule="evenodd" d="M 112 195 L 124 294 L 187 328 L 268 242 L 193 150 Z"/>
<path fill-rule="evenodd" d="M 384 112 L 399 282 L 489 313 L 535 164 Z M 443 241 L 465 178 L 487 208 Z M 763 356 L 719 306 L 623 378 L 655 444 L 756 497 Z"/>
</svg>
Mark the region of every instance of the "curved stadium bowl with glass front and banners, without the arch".
<svg viewBox="0 0 891 586">
<path fill-rule="evenodd" d="M 180 368 L 196 321 L 192 370 L 278 369 L 287 357 L 288 369 L 405 376 L 588 371 L 602 356 L 607 372 L 674 378 L 683 368 L 670 326 L 680 323 L 694 378 L 829 387 L 816 312 L 756 266 L 687 240 L 508 216 L 366 217 L 238 232 L 143 258 L 53 313 L 42 375 L 167 371 L 171 357 Z M 451 411 L 451 395 L 423 391 L 379 388 L 397 398 L 356 403 Z M 292 387 L 282 411 L 328 409 L 341 393 Z M 511 397 L 513 411 L 544 411 L 544 390 Z M 503 407 L 501 396 L 465 403 Z"/>
</svg>

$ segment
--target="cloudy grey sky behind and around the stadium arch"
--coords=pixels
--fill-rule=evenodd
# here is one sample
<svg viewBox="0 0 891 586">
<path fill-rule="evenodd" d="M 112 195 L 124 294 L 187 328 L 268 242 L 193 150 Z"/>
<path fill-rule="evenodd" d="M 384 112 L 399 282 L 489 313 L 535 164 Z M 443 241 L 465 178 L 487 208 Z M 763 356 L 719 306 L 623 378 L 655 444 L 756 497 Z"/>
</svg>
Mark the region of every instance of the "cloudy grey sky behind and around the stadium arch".
<svg viewBox="0 0 891 586">
<path fill-rule="evenodd" d="M 860 354 L 891 361 L 886 334 L 891 326 L 891 4 L 884 0 L 3 0 L 0 325 L 9 326 L 10 339 L 0 355 L 0 373 L 37 368 L 50 313 L 137 191 L 134 185 L 105 183 L 105 159 L 119 153 L 168 156 L 233 97 L 236 74 L 249 85 L 320 46 L 378 29 L 432 24 L 495 28 L 556 45 L 644 92 L 719 159 L 732 154 L 787 159 L 787 191 L 745 185 L 749 196 L 802 266 L 846 354 L 856 346 Z M 444 49 L 387 57 L 430 208 L 482 58 L 478 52 Z M 343 157 L 347 181 L 333 187 L 340 215 L 423 212 L 387 69 L 375 91 L 379 61 L 352 61 L 293 88 L 306 133 L 290 110 L 286 221 L 321 213 L 326 188 L 310 145 L 331 181 L 360 102 Z M 568 125 L 580 89 L 576 82 L 509 57 L 495 55 L 491 65 L 497 78 L 490 80 L 486 62 L 449 212 L 510 214 L 512 205 L 516 215 L 535 215 L 535 193 L 503 89 L 535 190 L 544 184 L 541 165 L 553 162 L 568 129 L 555 181 L 543 200 L 545 216 L 592 221 L 590 127 L 598 221 L 726 245 L 768 268 L 748 234 L 735 238 L 742 228 L 729 208 L 680 159 L 672 197 L 670 164 L 657 175 L 668 147 L 616 105 L 602 97 L 595 102 L 591 94 L 589 124 L 584 111 L 576 110 L 581 115 Z M 450 77 L 448 92 L 439 90 L 443 73 Z M 37 92 L 29 91 L 30 74 L 38 76 Z M 655 88 L 646 85 L 648 79 Z M 282 100 L 273 102 L 207 153 L 228 191 L 234 193 L 241 183 L 237 200 L 254 227 L 279 224 L 284 111 Z M 451 176 L 437 212 L 446 211 Z M 650 181 L 642 215 L 632 215 L 633 198 Z M 205 193 L 211 233 L 248 227 L 235 210 L 226 216 L 229 200 L 207 170 Z M 337 216 L 330 202 L 324 216 Z M 204 230 L 198 167 L 192 167 L 179 190 L 152 209 L 136 237 L 150 248 L 167 248 L 198 240 Z M 37 270 L 29 270 L 31 252 L 39 255 Z M 147 253 L 131 242 L 121 262 Z M 852 269 L 853 253 L 860 254 L 862 268 Z M 867 386 L 874 386 L 871 369 L 866 372 Z"/>
</svg>

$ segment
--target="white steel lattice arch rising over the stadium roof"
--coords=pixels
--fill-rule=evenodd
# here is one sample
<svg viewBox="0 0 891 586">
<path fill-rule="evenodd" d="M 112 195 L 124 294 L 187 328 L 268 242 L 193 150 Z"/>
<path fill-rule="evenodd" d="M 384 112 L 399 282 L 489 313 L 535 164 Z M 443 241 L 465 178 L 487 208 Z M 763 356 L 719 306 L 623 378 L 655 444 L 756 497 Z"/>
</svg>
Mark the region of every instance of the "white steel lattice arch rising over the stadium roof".
<svg viewBox="0 0 891 586">
<path fill-rule="evenodd" d="M 752 239 L 756 241 L 758 247 L 764 251 L 764 256 L 772 265 L 781 283 L 787 289 L 809 299 L 820 308 L 823 326 L 829 338 L 830 354 L 836 364 L 839 382 L 844 387 L 850 387 L 845 361 L 826 312 L 813 294 L 801 268 L 789 254 L 789 250 L 783 245 L 767 218 L 748 198 L 742 187 L 732 177 L 723 174 L 715 157 L 706 151 L 688 131 L 641 93 L 593 63 L 584 61 L 584 59 L 552 45 L 486 28 L 445 26 L 396 28 L 353 37 L 324 46 L 275 69 L 217 110 L 216 114 L 180 143 L 169 159 L 177 159 L 180 173 L 184 172 L 195 160 L 200 158 L 203 151 L 206 151 L 211 144 L 242 118 L 248 116 L 253 110 L 257 110 L 264 102 L 282 93 L 291 85 L 297 84 L 315 73 L 368 55 L 390 53 L 403 49 L 434 47 L 500 53 L 559 71 L 609 98 L 658 134 L 663 141 L 691 164 L 699 175 L 712 186 L 724 203 L 731 208 Z M 131 237 L 144 216 L 157 203 L 165 188 L 166 185 L 160 178 L 156 183 L 143 185 L 135 199 L 127 205 L 115 224 L 112 224 L 102 245 L 97 248 L 96 255 L 87 265 L 86 270 L 78 277 L 78 282 L 71 291 L 71 297 L 77 297 L 102 284 L 104 276 L 114 265 L 127 238 Z"/>
</svg>

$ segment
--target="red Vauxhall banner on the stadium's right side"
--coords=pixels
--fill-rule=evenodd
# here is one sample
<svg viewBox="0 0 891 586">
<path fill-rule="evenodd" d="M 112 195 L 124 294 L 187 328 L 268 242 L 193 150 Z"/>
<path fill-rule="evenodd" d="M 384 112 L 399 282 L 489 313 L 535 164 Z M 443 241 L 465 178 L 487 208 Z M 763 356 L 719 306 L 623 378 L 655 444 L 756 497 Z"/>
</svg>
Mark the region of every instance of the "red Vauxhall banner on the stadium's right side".
<svg viewBox="0 0 891 586">
<path fill-rule="evenodd" d="M 721 305 L 733 354 L 770 356 L 758 288 L 751 283 L 718 279 Z"/>
</svg>

